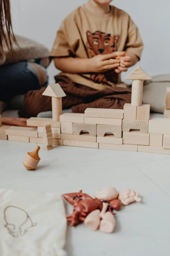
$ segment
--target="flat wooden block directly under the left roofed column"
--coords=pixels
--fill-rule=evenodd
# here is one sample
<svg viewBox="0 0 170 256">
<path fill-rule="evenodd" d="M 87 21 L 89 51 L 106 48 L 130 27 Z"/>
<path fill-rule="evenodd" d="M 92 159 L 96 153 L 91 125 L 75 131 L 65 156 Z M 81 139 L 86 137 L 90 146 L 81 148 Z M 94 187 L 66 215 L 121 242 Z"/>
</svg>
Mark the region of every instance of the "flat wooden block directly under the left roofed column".
<svg viewBox="0 0 170 256">
<path fill-rule="evenodd" d="M 43 118 L 43 117 L 31 117 L 27 120 L 28 126 L 45 126 L 51 125 L 54 128 L 60 128 L 60 122 L 52 121 L 52 118 Z"/>
</svg>

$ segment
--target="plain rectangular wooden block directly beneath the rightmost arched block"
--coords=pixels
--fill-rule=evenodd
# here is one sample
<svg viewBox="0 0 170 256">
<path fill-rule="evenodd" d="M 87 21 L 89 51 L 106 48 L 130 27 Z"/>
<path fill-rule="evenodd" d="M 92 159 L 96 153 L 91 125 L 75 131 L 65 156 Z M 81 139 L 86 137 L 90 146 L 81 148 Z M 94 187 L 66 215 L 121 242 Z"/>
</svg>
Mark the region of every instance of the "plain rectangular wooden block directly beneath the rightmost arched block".
<svg viewBox="0 0 170 256">
<path fill-rule="evenodd" d="M 139 130 L 123 132 L 123 144 L 149 146 L 149 133 L 140 133 Z"/>
</svg>

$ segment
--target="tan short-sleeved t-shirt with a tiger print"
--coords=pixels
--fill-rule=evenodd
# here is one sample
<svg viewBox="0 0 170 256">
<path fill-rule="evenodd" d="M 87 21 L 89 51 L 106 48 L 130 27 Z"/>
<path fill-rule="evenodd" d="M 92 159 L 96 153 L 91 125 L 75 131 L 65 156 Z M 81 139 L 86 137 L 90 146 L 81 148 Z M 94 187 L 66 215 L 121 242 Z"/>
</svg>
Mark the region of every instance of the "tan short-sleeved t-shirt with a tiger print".
<svg viewBox="0 0 170 256">
<path fill-rule="evenodd" d="M 139 31 L 126 12 L 111 6 L 108 14 L 96 15 L 83 5 L 62 22 L 50 56 L 92 58 L 98 54 L 126 51 L 140 58 L 142 50 Z M 61 74 L 97 90 L 103 89 L 103 85 L 115 86 L 120 82 L 114 70 L 99 74 Z"/>
</svg>

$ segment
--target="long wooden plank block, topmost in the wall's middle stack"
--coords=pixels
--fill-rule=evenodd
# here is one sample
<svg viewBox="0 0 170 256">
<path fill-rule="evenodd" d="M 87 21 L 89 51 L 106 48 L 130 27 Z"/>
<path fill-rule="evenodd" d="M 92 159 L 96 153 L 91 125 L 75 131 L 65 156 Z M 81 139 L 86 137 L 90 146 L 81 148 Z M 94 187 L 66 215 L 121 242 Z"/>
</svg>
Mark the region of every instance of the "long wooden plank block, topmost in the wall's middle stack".
<svg viewBox="0 0 170 256">
<path fill-rule="evenodd" d="M 86 117 L 100 117 L 100 118 L 116 118 L 123 119 L 122 109 L 92 109 L 87 108 L 84 111 Z"/>
</svg>

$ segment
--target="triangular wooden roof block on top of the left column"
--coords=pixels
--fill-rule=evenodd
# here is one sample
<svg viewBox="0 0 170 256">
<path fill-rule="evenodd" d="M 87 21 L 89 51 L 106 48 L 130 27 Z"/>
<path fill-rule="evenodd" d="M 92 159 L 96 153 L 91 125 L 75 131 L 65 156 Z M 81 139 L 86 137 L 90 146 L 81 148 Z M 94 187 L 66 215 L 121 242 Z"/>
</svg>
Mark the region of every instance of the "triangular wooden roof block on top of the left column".
<svg viewBox="0 0 170 256">
<path fill-rule="evenodd" d="M 47 86 L 46 90 L 42 95 L 55 97 L 55 98 L 61 98 L 66 96 L 63 89 L 59 84 L 50 84 Z"/>
</svg>

